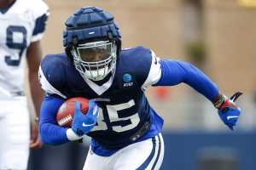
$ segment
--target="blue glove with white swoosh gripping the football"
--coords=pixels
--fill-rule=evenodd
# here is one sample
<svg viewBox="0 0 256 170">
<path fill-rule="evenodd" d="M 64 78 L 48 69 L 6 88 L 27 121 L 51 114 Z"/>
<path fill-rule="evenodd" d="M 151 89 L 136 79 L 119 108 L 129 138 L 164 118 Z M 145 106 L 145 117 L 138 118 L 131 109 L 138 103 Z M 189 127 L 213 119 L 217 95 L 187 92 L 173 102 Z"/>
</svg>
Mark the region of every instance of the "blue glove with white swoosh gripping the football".
<svg viewBox="0 0 256 170">
<path fill-rule="evenodd" d="M 99 107 L 96 105 L 95 99 L 90 99 L 87 114 L 83 114 L 80 105 L 81 103 L 76 101 L 72 129 L 77 135 L 83 136 L 84 134 L 89 133 L 95 126 L 99 115 Z"/>
</svg>

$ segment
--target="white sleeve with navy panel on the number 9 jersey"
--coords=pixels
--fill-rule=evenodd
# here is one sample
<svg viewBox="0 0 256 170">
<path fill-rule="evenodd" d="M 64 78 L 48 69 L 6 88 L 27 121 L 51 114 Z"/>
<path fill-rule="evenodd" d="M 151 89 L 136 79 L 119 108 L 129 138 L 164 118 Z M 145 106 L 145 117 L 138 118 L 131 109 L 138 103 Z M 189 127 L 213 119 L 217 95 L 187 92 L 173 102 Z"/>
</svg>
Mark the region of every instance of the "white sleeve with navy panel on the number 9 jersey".
<svg viewBox="0 0 256 170">
<path fill-rule="evenodd" d="M 33 0 L 30 6 L 32 10 L 32 42 L 42 39 L 46 26 L 46 21 L 49 17 L 49 7 L 43 0 Z"/>
</svg>

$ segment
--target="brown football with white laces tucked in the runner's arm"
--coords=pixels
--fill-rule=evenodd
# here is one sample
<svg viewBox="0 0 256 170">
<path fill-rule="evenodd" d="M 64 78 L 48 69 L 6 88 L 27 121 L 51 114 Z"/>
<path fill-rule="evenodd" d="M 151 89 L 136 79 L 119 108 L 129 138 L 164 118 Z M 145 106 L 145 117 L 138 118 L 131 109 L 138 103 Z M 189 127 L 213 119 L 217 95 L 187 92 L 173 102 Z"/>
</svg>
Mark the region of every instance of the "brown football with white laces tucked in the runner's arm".
<svg viewBox="0 0 256 170">
<path fill-rule="evenodd" d="M 89 99 L 76 97 L 67 99 L 59 108 L 56 115 L 56 122 L 61 127 L 71 127 L 73 122 L 73 114 L 75 111 L 75 102 L 81 103 L 81 111 L 86 114 L 89 107 Z"/>
</svg>

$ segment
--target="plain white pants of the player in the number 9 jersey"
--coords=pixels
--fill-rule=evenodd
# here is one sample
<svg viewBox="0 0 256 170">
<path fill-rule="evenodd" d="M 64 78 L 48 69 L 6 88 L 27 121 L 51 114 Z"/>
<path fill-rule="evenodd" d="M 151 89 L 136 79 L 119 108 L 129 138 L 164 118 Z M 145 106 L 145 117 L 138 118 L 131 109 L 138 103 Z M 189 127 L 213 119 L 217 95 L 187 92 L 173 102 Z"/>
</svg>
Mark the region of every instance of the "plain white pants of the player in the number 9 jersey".
<svg viewBox="0 0 256 170">
<path fill-rule="evenodd" d="M 30 123 L 26 97 L 0 99 L 0 169 L 26 170 Z"/>
</svg>

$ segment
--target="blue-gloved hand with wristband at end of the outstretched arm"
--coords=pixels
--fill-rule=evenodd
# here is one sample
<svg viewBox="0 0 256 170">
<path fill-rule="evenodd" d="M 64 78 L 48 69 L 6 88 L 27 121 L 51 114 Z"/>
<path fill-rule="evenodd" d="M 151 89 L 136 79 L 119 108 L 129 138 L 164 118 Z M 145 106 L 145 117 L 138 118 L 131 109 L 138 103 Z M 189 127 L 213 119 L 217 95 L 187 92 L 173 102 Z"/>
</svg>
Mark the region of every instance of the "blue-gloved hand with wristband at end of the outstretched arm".
<svg viewBox="0 0 256 170">
<path fill-rule="evenodd" d="M 225 125 L 234 130 L 236 122 L 241 114 L 241 109 L 236 106 L 236 99 L 241 95 L 240 92 L 234 94 L 230 99 L 225 97 L 224 104 L 218 109 L 218 116 L 224 122 Z"/>
</svg>

